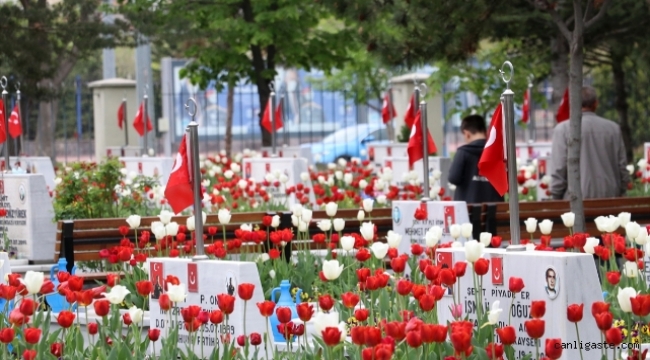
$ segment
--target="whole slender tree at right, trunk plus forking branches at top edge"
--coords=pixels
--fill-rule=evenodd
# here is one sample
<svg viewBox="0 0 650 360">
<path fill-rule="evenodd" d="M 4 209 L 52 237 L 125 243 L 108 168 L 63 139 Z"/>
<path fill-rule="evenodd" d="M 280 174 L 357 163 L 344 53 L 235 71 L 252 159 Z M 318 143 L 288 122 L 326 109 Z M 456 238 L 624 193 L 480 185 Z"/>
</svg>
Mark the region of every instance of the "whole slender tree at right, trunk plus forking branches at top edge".
<svg viewBox="0 0 650 360">
<path fill-rule="evenodd" d="M 584 232 L 585 214 L 582 204 L 582 188 L 580 185 L 580 143 L 582 131 L 582 67 L 584 62 L 585 32 L 600 21 L 611 5 L 611 0 L 597 0 L 598 4 L 589 0 L 583 9 L 582 1 L 573 0 L 573 16 L 568 20 L 562 18 L 557 11 L 558 3 L 547 0 L 528 0 L 533 6 L 548 12 L 553 22 L 569 43 L 569 107 L 571 111 L 570 134 L 567 154 L 567 195 L 571 211 L 575 214 L 574 229 Z M 598 8 L 597 8 L 598 7 Z M 595 13 L 595 15 L 594 15 Z M 569 26 L 573 25 L 570 30 Z"/>
</svg>

